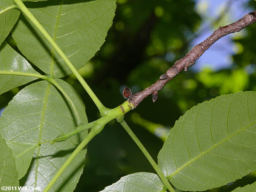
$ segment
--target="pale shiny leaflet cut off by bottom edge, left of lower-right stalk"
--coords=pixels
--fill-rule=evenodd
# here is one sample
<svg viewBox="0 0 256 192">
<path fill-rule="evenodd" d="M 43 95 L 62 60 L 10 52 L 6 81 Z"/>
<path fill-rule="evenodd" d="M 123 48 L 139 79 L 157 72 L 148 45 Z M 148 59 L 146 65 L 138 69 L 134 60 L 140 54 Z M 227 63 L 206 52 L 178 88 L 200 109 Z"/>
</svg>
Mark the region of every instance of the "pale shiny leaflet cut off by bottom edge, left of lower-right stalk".
<svg viewBox="0 0 256 192">
<path fill-rule="evenodd" d="M 111 186 L 105 187 L 102 192 L 122 191 L 122 192 L 160 192 L 163 189 L 163 183 L 160 178 L 154 173 L 134 173 L 122 177 Z"/>
</svg>

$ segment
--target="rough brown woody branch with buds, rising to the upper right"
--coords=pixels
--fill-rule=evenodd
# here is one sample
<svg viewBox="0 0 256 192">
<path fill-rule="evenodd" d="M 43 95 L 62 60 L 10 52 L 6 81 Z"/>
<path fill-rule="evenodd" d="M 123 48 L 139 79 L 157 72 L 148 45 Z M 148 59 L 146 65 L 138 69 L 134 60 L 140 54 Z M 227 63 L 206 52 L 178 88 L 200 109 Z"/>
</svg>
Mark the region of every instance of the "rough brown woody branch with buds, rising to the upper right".
<svg viewBox="0 0 256 192">
<path fill-rule="evenodd" d="M 152 84 L 150 87 L 144 89 L 130 96 L 129 102 L 135 107 L 140 104 L 140 102 L 152 94 L 152 99 L 155 101 L 157 97 L 157 91 L 163 89 L 166 83 L 168 83 L 172 78 L 174 78 L 183 69 L 187 71 L 188 67 L 195 64 L 195 61 L 201 57 L 201 55 L 218 39 L 228 35 L 230 33 L 239 32 L 244 27 L 251 25 L 256 22 L 256 10 L 244 15 L 241 19 L 229 25 L 219 27 L 216 31 L 212 33 L 206 40 L 200 44 L 193 47 L 183 58 L 176 61 L 175 64 L 169 68 L 166 73 L 160 76 L 160 78 Z"/>
</svg>

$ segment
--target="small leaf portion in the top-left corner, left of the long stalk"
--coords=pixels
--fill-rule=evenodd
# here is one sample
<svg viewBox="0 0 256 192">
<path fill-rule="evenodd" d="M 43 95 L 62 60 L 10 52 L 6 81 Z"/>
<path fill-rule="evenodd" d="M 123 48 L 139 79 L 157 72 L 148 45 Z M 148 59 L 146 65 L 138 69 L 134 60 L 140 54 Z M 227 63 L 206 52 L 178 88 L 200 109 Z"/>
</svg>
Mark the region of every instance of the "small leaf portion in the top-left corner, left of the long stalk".
<svg viewBox="0 0 256 192">
<path fill-rule="evenodd" d="M 0 45 L 9 35 L 12 27 L 16 23 L 20 15 L 20 10 L 13 9 L 15 3 L 12 0 L 1 0 L 0 1 Z"/>
</svg>

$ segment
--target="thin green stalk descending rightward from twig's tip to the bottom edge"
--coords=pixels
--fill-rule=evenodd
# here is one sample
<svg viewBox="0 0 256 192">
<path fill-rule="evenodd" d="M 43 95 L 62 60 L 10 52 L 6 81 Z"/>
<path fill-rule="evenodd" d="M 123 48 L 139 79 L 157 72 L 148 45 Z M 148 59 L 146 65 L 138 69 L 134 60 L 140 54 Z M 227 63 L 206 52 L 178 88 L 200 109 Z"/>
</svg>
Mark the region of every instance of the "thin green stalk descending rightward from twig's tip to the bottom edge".
<svg viewBox="0 0 256 192">
<path fill-rule="evenodd" d="M 169 189 L 170 192 L 175 192 L 175 190 L 172 188 L 171 184 L 169 183 L 168 179 L 163 175 L 163 172 L 161 172 L 160 168 L 157 166 L 157 163 L 153 160 L 151 155 L 148 153 L 146 148 L 143 146 L 142 143 L 140 143 L 140 140 L 136 137 L 134 132 L 131 130 L 129 125 L 123 120 L 119 121 L 119 123 L 122 125 L 122 127 L 125 129 L 125 131 L 131 136 L 131 138 L 134 140 L 134 142 L 137 144 L 137 146 L 140 148 L 140 150 L 143 152 L 145 157 L 148 159 L 149 163 L 153 166 L 154 170 L 157 172 L 157 175 L 160 177 L 160 179 L 163 182 L 163 185 Z"/>
</svg>

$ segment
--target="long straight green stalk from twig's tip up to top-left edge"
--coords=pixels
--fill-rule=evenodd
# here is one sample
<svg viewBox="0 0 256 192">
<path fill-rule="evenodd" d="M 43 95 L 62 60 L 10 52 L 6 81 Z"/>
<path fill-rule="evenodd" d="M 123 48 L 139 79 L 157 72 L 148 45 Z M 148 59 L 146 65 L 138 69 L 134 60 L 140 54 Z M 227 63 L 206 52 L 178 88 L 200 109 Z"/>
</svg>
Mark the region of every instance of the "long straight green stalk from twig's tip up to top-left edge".
<svg viewBox="0 0 256 192">
<path fill-rule="evenodd" d="M 97 108 L 99 109 L 99 112 L 102 115 L 105 115 L 109 111 L 108 108 L 106 108 L 97 98 L 97 96 L 93 93 L 93 90 L 89 87 L 89 85 L 84 81 L 83 77 L 79 74 L 79 72 L 76 70 L 76 67 L 70 62 L 70 60 L 67 58 L 67 56 L 64 54 L 64 52 L 61 50 L 60 47 L 55 43 L 55 41 L 52 39 L 52 37 L 47 33 L 47 31 L 44 29 L 43 26 L 38 22 L 38 20 L 29 12 L 29 10 L 26 8 L 26 6 L 23 4 L 21 0 L 14 0 L 17 6 L 19 6 L 20 10 L 34 23 L 34 25 L 38 28 L 38 30 L 44 35 L 44 37 L 49 41 L 50 44 L 52 44 L 52 47 L 58 52 L 58 54 L 61 56 L 61 58 L 65 61 L 67 66 L 70 68 L 70 70 L 74 73 L 76 78 L 79 80 L 81 85 L 84 87 L 84 89 L 89 94 L 90 98 L 93 100 Z"/>
</svg>

